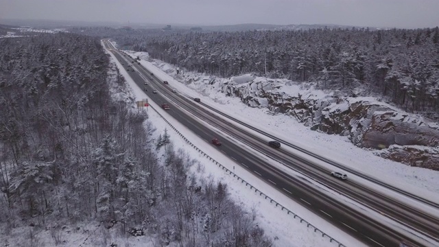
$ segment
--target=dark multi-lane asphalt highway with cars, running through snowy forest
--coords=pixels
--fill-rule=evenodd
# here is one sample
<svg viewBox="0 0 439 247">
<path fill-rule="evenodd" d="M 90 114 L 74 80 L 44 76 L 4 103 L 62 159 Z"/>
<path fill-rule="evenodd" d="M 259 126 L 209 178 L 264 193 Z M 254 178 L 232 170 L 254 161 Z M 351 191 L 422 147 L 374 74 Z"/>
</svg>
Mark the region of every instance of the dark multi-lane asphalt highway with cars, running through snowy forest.
<svg viewBox="0 0 439 247">
<path fill-rule="evenodd" d="M 108 45 L 108 43 L 106 43 L 106 45 Z M 230 156 L 230 158 L 233 158 L 237 164 L 241 165 L 256 176 L 261 177 L 261 180 L 264 180 L 268 185 L 276 187 L 276 189 L 284 193 L 286 196 L 292 198 L 292 200 L 295 200 L 299 204 L 302 204 L 302 206 L 307 207 L 309 210 L 313 211 L 313 213 L 320 215 L 320 217 L 328 220 L 338 228 L 342 229 L 342 231 L 357 237 L 361 242 L 364 242 L 369 246 L 387 247 L 399 246 L 401 239 L 407 239 L 415 244 L 415 246 L 429 246 L 427 242 L 408 235 L 407 233 L 395 231 L 388 225 L 383 224 L 383 222 L 370 217 L 365 211 L 352 209 L 351 207 L 346 206 L 345 203 L 335 200 L 335 198 L 331 198 L 327 193 L 322 193 L 321 189 L 318 189 L 307 181 L 284 174 L 279 169 L 272 166 L 268 159 L 254 156 L 254 154 L 249 152 L 247 148 L 243 148 L 232 139 L 222 137 L 222 134 L 213 132 L 212 128 L 203 124 L 200 119 L 207 124 L 226 132 L 230 136 L 233 136 L 235 139 L 245 143 L 248 147 L 257 150 L 261 154 L 273 158 L 274 160 L 283 163 L 284 165 L 291 167 L 292 169 L 301 172 L 332 189 L 335 189 L 335 191 L 339 191 L 343 195 L 355 199 L 366 207 L 370 207 L 371 210 L 379 211 L 383 215 L 388 215 L 388 217 L 402 222 L 402 224 L 405 224 L 408 228 L 412 228 L 413 231 L 422 232 L 424 235 L 436 239 L 439 237 L 438 215 L 429 215 L 418 209 L 413 209 L 402 202 L 383 196 L 379 191 L 374 191 L 361 186 L 353 180 L 337 180 L 330 176 L 330 171 L 324 167 L 313 164 L 304 158 L 300 158 L 299 156 L 283 150 L 282 148 L 269 148 L 265 139 L 254 136 L 254 134 L 241 128 L 241 123 L 237 124 L 237 121 L 233 119 L 232 121 L 227 121 L 221 117 L 217 117 L 215 114 L 211 113 L 211 110 L 216 111 L 215 109 L 211 108 L 210 110 L 206 110 L 209 106 L 194 102 L 191 98 L 186 97 L 185 95 L 172 92 L 169 86 L 163 84 L 163 82 L 158 80 L 154 75 L 151 75 L 151 73 L 145 68 L 141 67 L 136 62 L 132 63 L 132 58 L 123 56 L 123 54 L 120 51 L 117 51 L 114 47 L 111 47 L 111 51 L 119 61 L 125 61 L 125 63 L 132 64 L 132 66 L 135 67 L 136 71 L 129 71 L 128 73 L 130 73 L 134 82 L 136 82 L 141 88 L 147 88 L 148 91 L 145 93 L 147 93 L 150 100 L 157 104 L 165 102 L 171 106 L 171 110 L 167 111 L 169 115 L 180 121 L 181 124 L 187 126 L 187 128 L 206 141 L 210 141 L 212 137 L 219 137 L 223 145 L 218 147 L 218 149 L 224 152 L 227 156 Z M 126 65 L 124 67 L 126 67 Z M 144 85 L 144 78 L 150 85 Z M 152 86 L 154 86 L 159 93 L 152 93 Z M 166 97 L 163 97 L 162 94 L 166 95 Z M 222 115 L 222 113 L 219 114 Z M 280 141 L 285 145 L 285 141 Z"/>
</svg>

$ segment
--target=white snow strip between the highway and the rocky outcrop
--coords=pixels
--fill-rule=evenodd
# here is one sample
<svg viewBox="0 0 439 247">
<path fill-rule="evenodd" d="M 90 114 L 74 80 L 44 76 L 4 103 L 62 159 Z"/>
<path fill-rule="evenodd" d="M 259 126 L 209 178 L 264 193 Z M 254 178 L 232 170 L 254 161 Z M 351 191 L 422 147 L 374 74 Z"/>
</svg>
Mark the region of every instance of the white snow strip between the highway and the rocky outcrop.
<svg viewBox="0 0 439 247">
<path fill-rule="evenodd" d="M 131 52 L 134 56 L 140 56 L 141 58 L 147 58 L 145 52 Z M 251 124 L 265 132 L 273 134 L 276 137 L 281 137 L 285 141 L 288 141 L 294 145 L 300 145 L 321 156 L 330 158 L 337 163 L 342 163 L 353 169 L 368 174 L 379 180 L 394 185 L 396 187 L 405 189 L 418 196 L 423 196 L 429 200 L 439 202 L 439 172 L 430 169 L 424 169 L 419 167 L 410 167 L 390 161 L 379 156 L 375 156 L 376 150 L 365 150 L 356 147 L 348 140 L 347 137 L 342 137 L 335 134 L 324 134 L 317 131 L 309 130 L 309 127 L 303 126 L 298 123 L 293 117 L 287 115 L 272 115 L 268 114 L 266 108 L 252 108 L 241 103 L 241 99 L 238 97 L 226 97 L 224 93 L 219 91 L 217 85 L 206 85 L 206 83 L 192 82 L 189 85 L 182 84 L 177 80 L 174 80 L 175 67 L 171 64 L 165 64 L 164 62 L 154 60 L 154 62 L 148 62 L 142 60 L 141 64 L 147 69 L 152 71 L 157 78 L 161 80 L 167 80 L 171 86 L 176 88 L 180 93 L 191 95 L 191 97 L 199 97 L 204 104 L 209 104 L 217 110 L 221 110 L 228 115 L 235 117 L 241 121 Z M 166 72 L 165 72 L 166 71 Z M 169 74 L 169 72 L 171 72 Z M 185 74 L 191 72 L 184 72 Z M 192 73 L 193 78 L 198 78 L 200 81 L 212 81 L 216 83 L 220 79 L 213 78 L 210 75 L 202 75 L 200 73 Z M 262 80 L 256 78 L 256 80 Z M 272 80 L 272 79 L 265 79 Z M 307 91 L 301 89 L 297 84 L 292 84 L 288 80 L 278 80 L 283 82 L 281 89 L 290 95 L 304 95 L 304 97 L 320 98 L 327 97 L 330 93 L 323 91 Z M 207 89 L 206 89 L 207 88 Z M 372 97 L 364 97 L 368 101 L 373 101 Z M 385 105 L 389 108 L 395 109 L 394 106 Z M 257 120 L 255 120 L 257 119 Z M 349 175 L 349 174 L 348 174 Z"/>
</svg>

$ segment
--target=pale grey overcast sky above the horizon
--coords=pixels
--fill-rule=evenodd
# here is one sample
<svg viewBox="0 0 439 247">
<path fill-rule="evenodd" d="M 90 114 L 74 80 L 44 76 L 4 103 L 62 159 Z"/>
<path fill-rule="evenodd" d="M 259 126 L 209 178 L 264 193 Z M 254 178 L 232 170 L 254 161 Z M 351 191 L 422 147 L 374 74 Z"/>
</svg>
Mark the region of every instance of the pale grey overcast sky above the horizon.
<svg viewBox="0 0 439 247">
<path fill-rule="evenodd" d="M 439 26 L 439 0 L 0 0 L 1 19 Z"/>
</svg>

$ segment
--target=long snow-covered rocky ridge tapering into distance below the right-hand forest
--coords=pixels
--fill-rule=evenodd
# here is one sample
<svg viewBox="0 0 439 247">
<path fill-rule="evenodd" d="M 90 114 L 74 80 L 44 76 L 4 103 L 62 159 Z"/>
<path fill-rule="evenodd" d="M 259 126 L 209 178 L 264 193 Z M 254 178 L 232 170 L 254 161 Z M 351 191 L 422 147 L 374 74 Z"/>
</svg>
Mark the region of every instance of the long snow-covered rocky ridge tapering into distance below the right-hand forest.
<svg viewBox="0 0 439 247">
<path fill-rule="evenodd" d="M 439 163 L 434 158 L 439 151 L 430 148 L 425 152 L 425 147 L 439 145 L 438 124 L 403 113 L 373 97 L 340 96 L 340 92 L 323 91 L 308 84 L 248 74 L 216 78 L 187 71 L 175 73 L 176 69 L 169 64 L 153 63 L 202 95 L 215 99 L 216 94 L 222 92 L 229 97 L 239 97 L 247 106 L 292 116 L 311 130 L 340 134 L 360 148 L 381 150 L 379 155 L 382 157 L 439 170 Z M 403 148 L 405 145 L 411 146 Z M 399 150 L 401 148 L 403 150 Z M 410 158 L 412 154 L 417 158 Z"/>
</svg>

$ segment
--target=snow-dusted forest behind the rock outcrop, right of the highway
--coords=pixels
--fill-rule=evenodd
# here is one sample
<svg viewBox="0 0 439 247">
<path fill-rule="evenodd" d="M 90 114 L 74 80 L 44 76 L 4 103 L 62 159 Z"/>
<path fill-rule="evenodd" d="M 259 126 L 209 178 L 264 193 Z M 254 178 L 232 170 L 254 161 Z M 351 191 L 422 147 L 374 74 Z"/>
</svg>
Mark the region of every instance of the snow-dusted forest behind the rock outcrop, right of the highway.
<svg viewBox="0 0 439 247">
<path fill-rule="evenodd" d="M 266 74 L 322 88 L 371 89 L 407 110 L 439 110 L 439 28 L 311 29 L 118 36 L 191 71 Z M 373 91 L 373 92 L 370 92 Z"/>
</svg>

